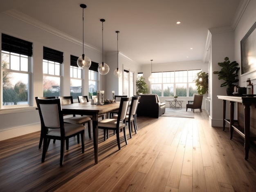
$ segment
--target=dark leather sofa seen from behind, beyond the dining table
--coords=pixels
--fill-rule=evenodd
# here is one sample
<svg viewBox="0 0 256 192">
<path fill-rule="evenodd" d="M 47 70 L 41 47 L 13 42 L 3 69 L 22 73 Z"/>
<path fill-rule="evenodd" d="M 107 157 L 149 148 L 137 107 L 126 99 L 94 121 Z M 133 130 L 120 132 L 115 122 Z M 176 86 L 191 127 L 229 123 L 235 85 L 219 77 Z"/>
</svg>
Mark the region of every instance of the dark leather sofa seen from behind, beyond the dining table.
<svg viewBox="0 0 256 192">
<path fill-rule="evenodd" d="M 146 116 L 158 118 L 165 113 L 165 103 L 160 103 L 156 94 L 139 95 L 139 105 L 137 116 Z"/>
</svg>

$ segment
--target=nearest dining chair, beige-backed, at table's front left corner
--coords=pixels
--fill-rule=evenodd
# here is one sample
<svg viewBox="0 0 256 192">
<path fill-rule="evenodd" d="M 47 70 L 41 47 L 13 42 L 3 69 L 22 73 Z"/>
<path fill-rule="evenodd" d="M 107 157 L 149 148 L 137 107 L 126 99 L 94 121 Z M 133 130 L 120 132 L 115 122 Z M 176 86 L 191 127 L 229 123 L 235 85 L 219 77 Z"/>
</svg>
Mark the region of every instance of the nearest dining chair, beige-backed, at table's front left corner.
<svg viewBox="0 0 256 192">
<path fill-rule="evenodd" d="M 43 154 L 42 162 L 45 162 L 46 152 L 50 139 L 61 141 L 60 166 L 63 165 L 65 141 L 68 150 L 68 139 L 78 134 L 81 135 L 82 153 L 84 153 L 85 127 L 79 124 L 66 124 L 63 120 L 60 99 L 36 99 L 40 121 L 43 126 Z"/>
</svg>

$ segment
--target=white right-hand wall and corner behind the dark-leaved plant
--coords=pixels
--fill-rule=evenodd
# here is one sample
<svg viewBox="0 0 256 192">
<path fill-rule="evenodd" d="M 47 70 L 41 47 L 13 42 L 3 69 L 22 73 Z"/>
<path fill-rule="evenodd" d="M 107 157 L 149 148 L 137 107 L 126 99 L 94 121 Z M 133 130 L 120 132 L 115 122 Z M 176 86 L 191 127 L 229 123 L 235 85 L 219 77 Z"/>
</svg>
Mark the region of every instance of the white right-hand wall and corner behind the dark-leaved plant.
<svg viewBox="0 0 256 192">
<path fill-rule="evenodd" d="M 218 62 L 223 62 L 225 57 L 229 57 L 230 61 L 235 60 L 241 67 L 240 41 L 254 22 L 256 22 L 256 1 L 250 0 L 235 30 L 222 33 L 220 31 L 216 32 L 216 30 L 213 32 L 211 45 L 212 72 L 220 70 Z M 256 84 L 256 71 L 241 75 L 240 70 L 239 73 L 239 86 L 245 86 L 245 81 L 248 77 Z M 210 107 L 212 110 L 212 126 L 222 126 L 222 100 L 218 99 L 217 95 L 227 95 L 227 93 L 225 90 L 226 87 L 220 88 L 220 81 L 221 80 L 218 80 L 218 75 L 212 75 L 212 98 Z M 227 107 L 226 110 L 226 116 L 229 118 L 229 108 Z"/>
</svg>

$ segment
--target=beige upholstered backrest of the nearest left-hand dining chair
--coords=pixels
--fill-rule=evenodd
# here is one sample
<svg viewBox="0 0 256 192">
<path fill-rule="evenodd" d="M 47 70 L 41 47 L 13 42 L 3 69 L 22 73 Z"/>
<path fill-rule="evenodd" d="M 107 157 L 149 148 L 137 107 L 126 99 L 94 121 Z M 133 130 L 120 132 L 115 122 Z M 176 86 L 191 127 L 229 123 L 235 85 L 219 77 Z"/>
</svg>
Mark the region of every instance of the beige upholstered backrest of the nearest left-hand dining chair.
<svg viewBox="0 0 256 192">
<path fill-rule="evenodd" d="M 36 104 L 45 133 L 47 133 L 48 128 L 63 128 L 60 99 L 36 99 Z M 64 135 L 64 128 L 61 134 Z"/>
</svg>

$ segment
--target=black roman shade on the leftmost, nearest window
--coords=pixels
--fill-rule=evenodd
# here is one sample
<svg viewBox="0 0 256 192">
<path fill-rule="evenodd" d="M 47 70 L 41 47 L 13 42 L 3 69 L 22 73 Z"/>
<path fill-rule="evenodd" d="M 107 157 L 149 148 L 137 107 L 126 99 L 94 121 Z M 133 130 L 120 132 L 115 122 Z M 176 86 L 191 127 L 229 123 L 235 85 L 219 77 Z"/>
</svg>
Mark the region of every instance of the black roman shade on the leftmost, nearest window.
<svg viewBox="0 0 256 192">
<path fill-rule="evenodd" d="M 2 50 L 32 56 L 32 43 L 2 33 Z"/>
</svg>

